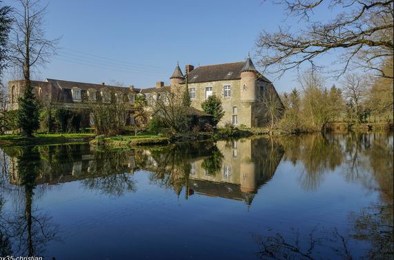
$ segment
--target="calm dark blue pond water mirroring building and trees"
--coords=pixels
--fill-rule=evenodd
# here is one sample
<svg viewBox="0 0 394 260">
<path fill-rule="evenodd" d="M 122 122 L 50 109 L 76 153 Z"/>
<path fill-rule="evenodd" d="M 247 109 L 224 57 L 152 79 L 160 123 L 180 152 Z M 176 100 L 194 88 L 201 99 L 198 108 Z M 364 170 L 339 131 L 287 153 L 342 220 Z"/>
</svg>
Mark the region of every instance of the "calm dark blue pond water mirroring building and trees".
<svg viewBox="0 0 394 260">
<path fill-rule="evenodd" d="M 393 257 L 392 133 L 0 156 L 0 257 Z"/>
</svg>

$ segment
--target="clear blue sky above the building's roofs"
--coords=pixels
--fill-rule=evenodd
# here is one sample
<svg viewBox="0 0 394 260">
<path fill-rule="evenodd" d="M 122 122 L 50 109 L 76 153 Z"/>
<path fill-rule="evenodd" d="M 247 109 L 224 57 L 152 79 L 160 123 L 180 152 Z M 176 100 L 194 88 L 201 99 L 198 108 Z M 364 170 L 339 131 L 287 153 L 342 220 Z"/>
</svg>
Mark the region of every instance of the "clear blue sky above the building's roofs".
<svg viewBox="0 0 394 260">
<path fill-rule="evenodd" d="M 12 0 L 4 3 L 15 5 Z M 331 14 L 320 11 L 319 19 Z M 248 52 L 253 56 L 262 29 L 299 26 L 297 19 L 285 18 L 282 6 L 260 0 L 52 0 L 46 34 L 62 37 L 61 49 L 36 77 L 115 80 L 148 88 L 156 81 L 168 83 L 177 61 L 184 68 L 243 61 Z M 278 92 L 294 88 L 295 77 L 296 72 L 288 72 L 274 81 Z"/>
</svg>

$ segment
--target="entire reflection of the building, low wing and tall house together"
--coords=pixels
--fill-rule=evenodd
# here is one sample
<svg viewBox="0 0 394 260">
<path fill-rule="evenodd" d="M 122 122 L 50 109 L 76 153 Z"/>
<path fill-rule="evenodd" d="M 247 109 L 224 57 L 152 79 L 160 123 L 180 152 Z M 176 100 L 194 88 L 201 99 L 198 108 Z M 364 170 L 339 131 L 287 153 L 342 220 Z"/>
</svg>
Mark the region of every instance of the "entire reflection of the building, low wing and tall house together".
<svg viewBox="0 0 394 260">
<path fill-rule="evenodd" d="M 9 150 L 10 183 L 21 185 L 18 150 Z M 12 154 L 12 155 L 11 155 Z M 150 181 L 178 195 L 194 193 L 246 201 L 266 183 L 283 150 L 268 139 L 168 146 L 163 150 L 94 152 L 90 146 L 43 146 L 35 150 L 35 184 L 56 184 L 148 170 Z"/>
</svg>

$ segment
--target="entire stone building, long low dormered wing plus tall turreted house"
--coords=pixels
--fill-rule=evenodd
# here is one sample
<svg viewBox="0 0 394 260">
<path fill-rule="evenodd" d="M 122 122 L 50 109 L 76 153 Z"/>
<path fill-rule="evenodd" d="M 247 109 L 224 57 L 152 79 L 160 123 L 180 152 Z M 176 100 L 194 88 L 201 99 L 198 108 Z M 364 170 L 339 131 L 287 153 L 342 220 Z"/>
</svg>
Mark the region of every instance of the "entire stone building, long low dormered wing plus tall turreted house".
<svg viewBox="0 0 394 260">
<path fill-rule="evenodd" d="M 18 109 L 18 97 L 21 96 L 23 82 L 8 82 L 10 110 Z M 144 94 L 150 103 L 168 91 L 184 90 L 186 83 L 191 105 L 197 110 L 201 110 L 201 103 L 210 95 L 215 94 L 221 99 L 225 114 L 219 126 L 227 123 L 245 127 L 266 126 L 268 115 L 264 100 L 268 93 L 273 94 L 279 106 L 283 107 L 273 83 L 256 70 L 250 57 L 246 61 L 198 68 L 188 65 L 185 74 L 177 66 L 170 77 L 170 86 L 164 86 L 164 82 L 159 81 L 153 88 L 127 88 L 59 79 L 32 81 L 32 86 L 35 87 L 37 99 L 42 103 L 51 102 L 61 108 L 86 108 L 86 101 L 126 102 L 131 105 L 132 114 L 132 105 L 137 94 Z"/>
</svg>

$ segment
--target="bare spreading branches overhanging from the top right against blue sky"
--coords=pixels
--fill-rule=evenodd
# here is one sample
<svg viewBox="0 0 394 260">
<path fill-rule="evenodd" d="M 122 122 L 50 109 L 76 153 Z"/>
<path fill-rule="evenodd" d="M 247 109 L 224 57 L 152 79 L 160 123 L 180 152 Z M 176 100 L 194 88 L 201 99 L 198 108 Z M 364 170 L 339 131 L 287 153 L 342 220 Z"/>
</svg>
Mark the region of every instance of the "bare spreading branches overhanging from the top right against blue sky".
<svg viewBox="0 0 394 260">
<path fill-rule="evenodd" d="M 348 66 L 376 70 L 382 77 L 393 76 L 380 70 L 382 60 L 393 57 L 393 0 L 273 0 L 284 6 L 288 16 L 305 21 L 305 29 L 293 32 L 279 27 L 277 32 L 263 31 L 257 39 L 259 65 L 265 72 L 278 73 L 299 68 L 304 62 L 317 67 L 317 57 L 333 50 L 341 52 L 337 61 L 343 64 L 335 71 L 343 74 Z M 311 21 L 318 8 L 341 8 L 331 21 Z"/>
</svg>

